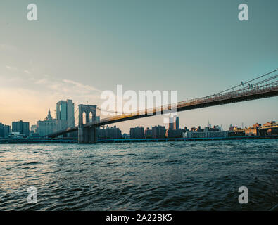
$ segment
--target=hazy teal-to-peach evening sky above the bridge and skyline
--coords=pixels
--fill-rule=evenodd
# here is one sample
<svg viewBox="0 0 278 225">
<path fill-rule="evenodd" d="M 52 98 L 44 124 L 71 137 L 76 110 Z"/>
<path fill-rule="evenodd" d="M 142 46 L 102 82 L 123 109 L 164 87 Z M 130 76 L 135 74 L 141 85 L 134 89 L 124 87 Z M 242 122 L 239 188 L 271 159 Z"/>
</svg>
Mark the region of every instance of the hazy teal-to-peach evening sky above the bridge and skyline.
<svg viewBox="0 0 278 225">
<path fill-rule="evenodd" d="M 27 20 L 37 4 L 38 21 Z M 248 21 L 239 21 L 239 4 Z M 36 124 L 56 102 L 101 105 L 101 93 L 214 94 L 278 68 L 276 0 L 0 2 L 0 122 Z M 277 97 L 178 113 L 180 127 L 278 120 Z M 149 117 L 117 125 L 163 125 Z M 167 124 L 164 124 L 168 128 Z"/>
</svg>

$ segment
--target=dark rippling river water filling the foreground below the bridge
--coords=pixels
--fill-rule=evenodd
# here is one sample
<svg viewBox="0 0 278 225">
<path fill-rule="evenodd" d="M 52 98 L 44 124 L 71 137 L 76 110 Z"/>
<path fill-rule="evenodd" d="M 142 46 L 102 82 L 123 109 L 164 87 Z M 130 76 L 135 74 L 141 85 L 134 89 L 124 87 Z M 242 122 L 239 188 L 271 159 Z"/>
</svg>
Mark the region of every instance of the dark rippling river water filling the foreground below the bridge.
<svg viewBox="0 0 278 225">
<path fill-rule="evenodd" d="M 37 188 L 37 204 L 27 188 Z M 246 186 L 249 203 L 239 204 Z M 0 145 L 0 210 L 270 210 L 278 140 Z"/>
</svg>

